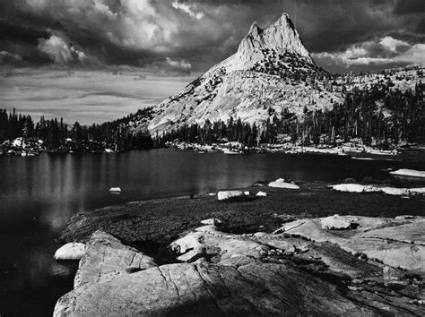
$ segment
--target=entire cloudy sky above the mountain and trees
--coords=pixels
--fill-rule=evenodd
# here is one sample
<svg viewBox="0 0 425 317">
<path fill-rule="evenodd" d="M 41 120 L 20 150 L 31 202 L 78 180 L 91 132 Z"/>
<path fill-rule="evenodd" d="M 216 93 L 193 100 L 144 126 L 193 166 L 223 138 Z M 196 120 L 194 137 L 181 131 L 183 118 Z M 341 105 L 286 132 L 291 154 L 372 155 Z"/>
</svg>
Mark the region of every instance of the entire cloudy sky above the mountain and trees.
<svg viewBox="0 0 425 317">
<path fill-rule="evenodd" d="M 83 124 L 125 116 L 283 12 L 328 71 L 425 64 L 425 0 L 0 0 L 0 108 Z"/>
</svg>

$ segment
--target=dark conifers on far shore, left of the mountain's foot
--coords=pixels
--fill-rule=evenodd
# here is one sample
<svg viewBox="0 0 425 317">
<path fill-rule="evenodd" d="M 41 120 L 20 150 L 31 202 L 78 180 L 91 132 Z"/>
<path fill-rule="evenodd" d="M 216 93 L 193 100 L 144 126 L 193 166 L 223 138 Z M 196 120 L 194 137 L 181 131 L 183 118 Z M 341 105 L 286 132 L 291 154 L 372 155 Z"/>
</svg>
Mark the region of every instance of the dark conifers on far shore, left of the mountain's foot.
<svg viewBox="0 0 425 317">
<path fill-rule="evenodd" d="M 46 119 L 41 116 L 34 122 L 31 116 L 18 115 L 16 110 L 0 110 L 0 143 L 22 137 L 30 146 L 45 150 L 132 150 L 151 149 L 153 141 L 146 130 L 133 129 L 136 120 L 149 120 L 152 109 L 104 124 L 65 124 L 63 118 Z M 39 142 L 41 141 L 41 143 Z"/>
</svg>

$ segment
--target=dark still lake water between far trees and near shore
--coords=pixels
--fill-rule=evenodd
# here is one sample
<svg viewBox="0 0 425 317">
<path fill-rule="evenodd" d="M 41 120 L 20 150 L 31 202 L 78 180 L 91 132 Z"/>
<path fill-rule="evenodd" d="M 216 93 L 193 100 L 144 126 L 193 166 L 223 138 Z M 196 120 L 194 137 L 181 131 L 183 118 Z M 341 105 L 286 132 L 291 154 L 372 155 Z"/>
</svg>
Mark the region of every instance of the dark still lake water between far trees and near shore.
<svg viewBox="0 0 425 317">
<path fill-rule="evenodd" d="M 53 260 L 55 238 L 75 213 L 157 197 L 242 187 L 290 176 L 334 182 L 388 178 L 385 168 L 424 163 L 321 155 L 200 154 L 149 150 L 119 154 L 0 157 L 0 315 L 43 315 L 72 289 L 75 263 Z M 113 186 L 123 193 L 108 193 Z"/>
</svg>

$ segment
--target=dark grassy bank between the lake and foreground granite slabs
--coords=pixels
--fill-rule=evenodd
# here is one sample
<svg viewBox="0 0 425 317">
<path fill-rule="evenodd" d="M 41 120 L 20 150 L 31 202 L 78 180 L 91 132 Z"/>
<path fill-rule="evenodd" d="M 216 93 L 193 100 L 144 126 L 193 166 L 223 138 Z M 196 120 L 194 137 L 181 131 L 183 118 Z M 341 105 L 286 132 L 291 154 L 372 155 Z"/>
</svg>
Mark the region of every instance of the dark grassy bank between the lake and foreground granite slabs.
<svg viewBox="0 0 425 317">
<path fill-rule="evenodd" d="M 315 218 L 334 214 L 393 218 L 423 216 L 425 197 L 405 199 L 380 193 L 337 193 L 325 182 L 300 184 L 300 190 L 250 186 L 246 201 L 218 201 L 207 193 L 133 201 L 75 215 L 58 241 L 85 242 L 101 229 L 134 244 L 169 244 L 178 235 L 199 226 L 205 218 L 221 218 L 223 230 L 232 233 L 271 232 L 291 218 Z M 256 197 L 258 191 L 267 197 Z"/>
</svg>

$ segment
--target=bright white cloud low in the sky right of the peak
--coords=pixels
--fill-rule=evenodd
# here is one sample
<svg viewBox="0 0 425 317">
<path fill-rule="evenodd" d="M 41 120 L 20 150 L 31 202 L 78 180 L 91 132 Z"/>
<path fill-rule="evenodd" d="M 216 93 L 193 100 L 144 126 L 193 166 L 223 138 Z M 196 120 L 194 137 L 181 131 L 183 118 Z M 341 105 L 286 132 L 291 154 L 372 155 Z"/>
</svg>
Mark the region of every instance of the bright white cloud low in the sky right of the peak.
<svg viewBox="0 0 425 317">
<path fill-rule="evenodd" d="M 351 65 L 412 63 L 425 64 L 425 44 L 411 45 L 386 36 L 382 39 L 354 44 L 345 51 L 318 53 L 313 56 L 329 63 Z"/>
</svg>

